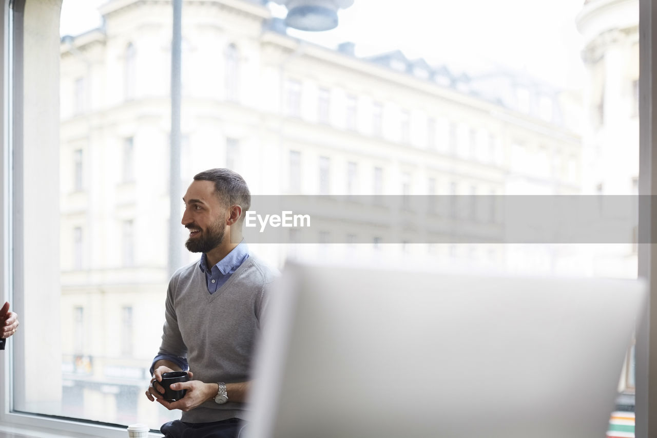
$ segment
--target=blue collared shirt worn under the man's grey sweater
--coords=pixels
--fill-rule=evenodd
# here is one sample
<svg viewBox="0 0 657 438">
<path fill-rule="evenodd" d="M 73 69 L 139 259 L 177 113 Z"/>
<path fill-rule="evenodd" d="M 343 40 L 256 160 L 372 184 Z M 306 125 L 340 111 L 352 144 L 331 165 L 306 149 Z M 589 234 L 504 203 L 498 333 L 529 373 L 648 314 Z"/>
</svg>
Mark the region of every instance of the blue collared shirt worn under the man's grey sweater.
<svg viewBox="0 0 657 438">
<path fill-rule="evenodd" d="M 242 240 L 238 243 L 237 247 L 233 248 L 233 251 L 228 253 L 224 258 L 219 260 L 217 264 L 208 269 L 208 258 L 205 253 L 201 256 L 201 259 L 198 262 L 198 268 L 206 274 L 206 282 L 208 285 L 208 292 L 215 293 L 219 287 L 223 286 L 233 272 L 237 271 L 237 268 L 240 267 L 242 263 L 248 258 L 248 246 Z M 173 354 L 158 354 L 153 359 L 152 365 L 150 366 L 150 375 L 153 374 L 153 366 L 155 362 L 160 359 L 171 360 L 171 362 L 177 364 L 182 370 L 189 370 L 189 364 L 187 364 L 187 359 L 173 356 Z"/>
</svg>

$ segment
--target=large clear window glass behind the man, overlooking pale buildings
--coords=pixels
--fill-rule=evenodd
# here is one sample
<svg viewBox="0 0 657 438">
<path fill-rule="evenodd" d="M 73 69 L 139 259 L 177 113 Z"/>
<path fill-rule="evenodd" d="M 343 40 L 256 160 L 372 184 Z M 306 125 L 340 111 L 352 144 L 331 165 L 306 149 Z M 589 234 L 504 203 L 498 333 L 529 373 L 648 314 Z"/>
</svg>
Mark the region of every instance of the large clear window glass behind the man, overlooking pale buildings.
<svg viewBox="0 0 657 438">
<path fill-rule="evenodd" d="M 502 195 L 634 194 L 638 31 L 621 18 L 637 5 L 401 3 L 356 0 L 335 30 L 311 33 L 285 28 L 284 8 L 273 2 L 235 0 L 227 11 L 184 1 L 183 63 L 194 68 L 183 71 L 194 93 L 182 107 L 184 157 L 170 157 L 170 3 L 63 1 L 60 153 L 51 174 L 35 167 L 21 175 L 57 184 L 56 199 L 26 185 L 25 203 L 58 210 L 48 303 L 57 303 L 61 342 L 24 346 L 22 357 L 51 363 L 53 378 L 39 391 L 28 361 L 17 364 L 16 381 L 25 382 L 17 410 L 154 428 L 179 416 L 143 393 L 164 322 L 168 202 L 206 168 L 237 169 L 256 195 L 346 190 L 352 204 L 361 193 L 379 197 L 368 204 L 376 214 L 367 227 L 338 232 L 332 216 L 313 230 L 315 245 L 252 247 L 277 266 L 287 256 L 421 256 L 472 270 L 636 276 L 633 224 L 622 243 L 466 245 L 453 235 L 397 238 L 376 203 L 399 197 L 411 219 L 430 212 L 451 230 L 502 226 Z M 390 32 L 390 23 L 403 29 Z M 350 50 L 338 50 L 346 40 Z M 436 41 L 449 44 L 437 51 Z M 30 158 L 40 157 L 39 145 L 28 138 L 25 147 L 26 166 L 37 166 Z M 170 190 L 171 160 L 181 163 L 179 193 Z M 289 231 L 292 243 L 304 240 L 303 230 Z M 26 235 L 24 245 L 30 254 L 43 243 Z M 183 245 L 171 251 L 195 258 Z M 25 305 L 28 318 L 43 303 Z M 622 379 L 621 392 L 633 394 L 633 353 Z"/>
</svg>

